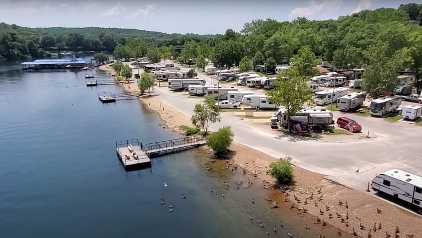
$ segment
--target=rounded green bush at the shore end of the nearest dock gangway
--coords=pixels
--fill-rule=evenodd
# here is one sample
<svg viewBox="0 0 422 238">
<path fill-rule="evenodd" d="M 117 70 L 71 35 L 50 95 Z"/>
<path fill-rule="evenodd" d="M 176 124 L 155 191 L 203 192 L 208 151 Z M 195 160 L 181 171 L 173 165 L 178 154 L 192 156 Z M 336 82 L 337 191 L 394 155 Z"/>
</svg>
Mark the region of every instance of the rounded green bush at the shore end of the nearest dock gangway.
<svg viewBox="0 0 422 238">
<path fill-rule="evenodd" d="M 230 126 L 220 128 L 218 131 L 209 134 L 206 138 L 207 145 L 214 150 L 215 154 L 227 152 L 233 142 L 233 132 Z"/>
</svg>

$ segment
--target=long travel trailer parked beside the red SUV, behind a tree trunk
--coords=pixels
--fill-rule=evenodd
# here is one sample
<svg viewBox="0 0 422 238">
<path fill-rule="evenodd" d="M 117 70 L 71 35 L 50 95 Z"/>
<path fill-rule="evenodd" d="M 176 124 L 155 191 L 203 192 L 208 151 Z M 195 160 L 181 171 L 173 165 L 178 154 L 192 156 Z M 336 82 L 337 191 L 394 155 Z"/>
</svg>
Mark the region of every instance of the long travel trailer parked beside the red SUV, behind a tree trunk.
<svg viewBox="0 0 422 238">
<path fill-rule="evenodd" d="M 281 107 L 277 112 L 271 115 L 271 127 L 288 126 L 287 111 Z M 300 124 L 301 126 L 328 126 L 333 125 L 333 113 L 326 109 L 302 109 L 290 117 L 291 126 Z"/>
</svg>

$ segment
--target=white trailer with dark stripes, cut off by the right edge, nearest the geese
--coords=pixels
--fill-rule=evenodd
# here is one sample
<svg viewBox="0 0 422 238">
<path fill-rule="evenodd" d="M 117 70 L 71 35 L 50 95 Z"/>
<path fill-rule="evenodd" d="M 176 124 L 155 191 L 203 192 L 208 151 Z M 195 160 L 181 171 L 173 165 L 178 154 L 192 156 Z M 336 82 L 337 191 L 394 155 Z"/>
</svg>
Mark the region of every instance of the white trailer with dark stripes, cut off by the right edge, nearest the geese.
<svg viewBox="0 0 422 238">
<path fill-rule="evenodd" d="M 417 208 L 422 215 L 422 177 L 398 169 L 379 173 L 373 178 L 374 191 L 389 194 Z"/>
</svg>

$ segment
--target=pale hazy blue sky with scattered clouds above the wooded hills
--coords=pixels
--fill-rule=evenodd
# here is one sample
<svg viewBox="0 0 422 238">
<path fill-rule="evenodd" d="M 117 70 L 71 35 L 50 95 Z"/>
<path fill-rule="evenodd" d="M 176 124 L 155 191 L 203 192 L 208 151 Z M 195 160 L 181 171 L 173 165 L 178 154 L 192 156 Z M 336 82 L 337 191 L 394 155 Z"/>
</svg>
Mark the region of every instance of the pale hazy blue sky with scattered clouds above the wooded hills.
<svg viewBox="0 0 422 238">
<path fill-rule="evenodd" d="M 117 27 L 224 33 L 252 19 L 337 19 L 422 0 L 0 0 L 0 22 L 25 27 Z"/>
</svg>

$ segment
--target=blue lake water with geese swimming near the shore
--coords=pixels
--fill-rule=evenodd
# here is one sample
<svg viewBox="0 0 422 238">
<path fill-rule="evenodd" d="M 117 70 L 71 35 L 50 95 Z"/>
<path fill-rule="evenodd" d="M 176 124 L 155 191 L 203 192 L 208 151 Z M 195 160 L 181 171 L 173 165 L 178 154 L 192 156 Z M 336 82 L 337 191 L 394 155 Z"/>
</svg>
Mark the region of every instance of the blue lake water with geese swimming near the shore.
<svg viewBox="0 0 422 238">
<path fill-rule="evenodd" d="M 267 237 L 266 229 L 271 237 L 288 237 L 287 230 L 311 237 L 301 231 L 300 219 L 268 208 L 261 185 L 234 189 L 235 181 L 246 181 L 241 171 L 208 172 L 203 150 L 162 156 L 151 169 L 125 172 L 116 141 L 181 136 L 162 129 L 157 115 L 135 99 L 102 104 L 97 92 L 122 89 L 88 88 L 86 73 L 0 66 L 0 237 Z M 213 167 L 224 165 L 216 161 Z M 225 197 L 211 194 L 210 187 Z"/>
</svg>

